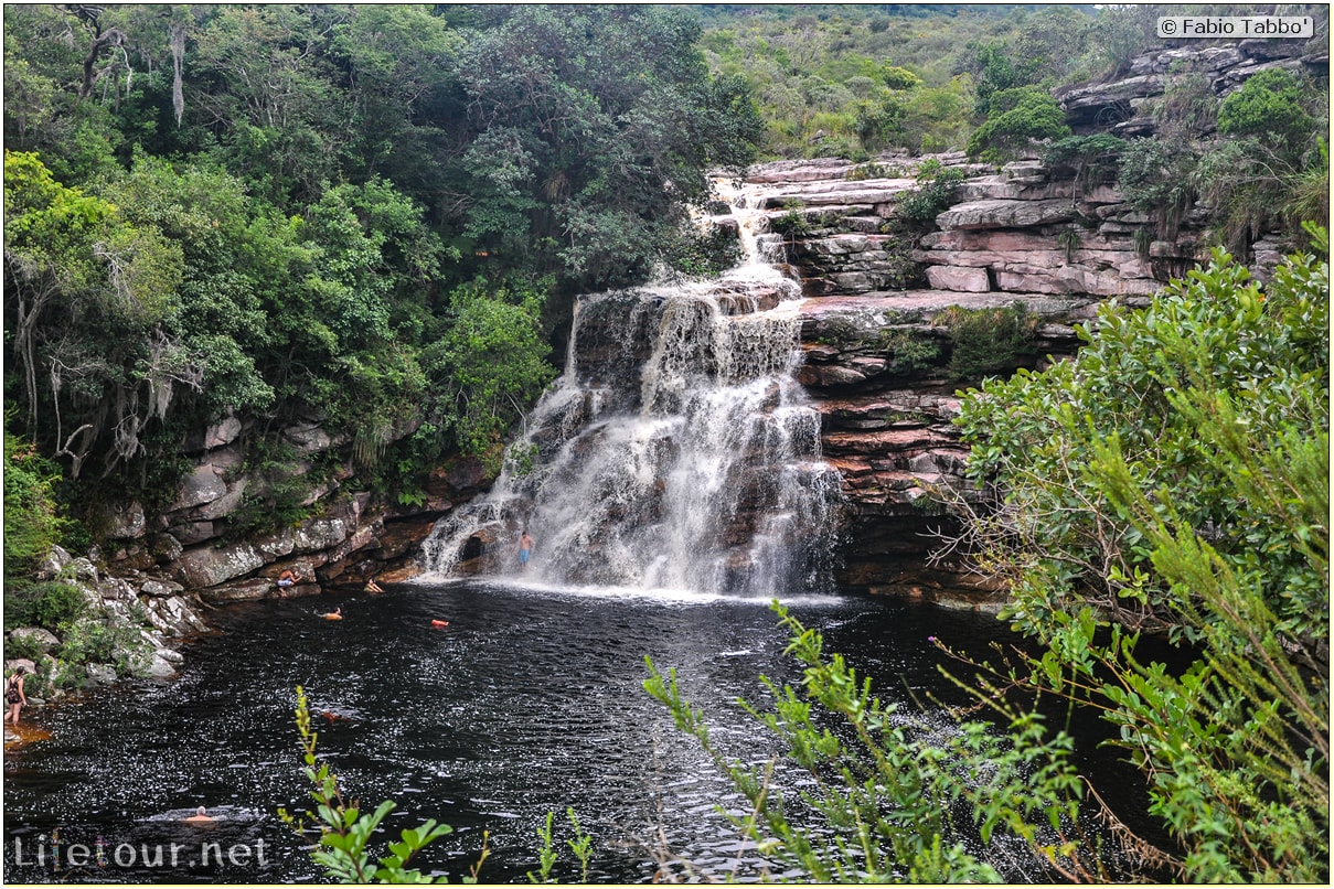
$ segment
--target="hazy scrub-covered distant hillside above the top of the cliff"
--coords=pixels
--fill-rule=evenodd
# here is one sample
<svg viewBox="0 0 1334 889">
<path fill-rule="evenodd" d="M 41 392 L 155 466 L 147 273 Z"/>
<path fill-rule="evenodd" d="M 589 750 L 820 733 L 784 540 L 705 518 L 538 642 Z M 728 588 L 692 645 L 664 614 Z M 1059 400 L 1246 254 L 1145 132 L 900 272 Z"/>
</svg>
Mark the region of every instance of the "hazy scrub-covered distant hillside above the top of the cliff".
<svg viewBox="0 0 1334 889">
<path fill-rule="evenodd" d="M 714 73 L 738 76 L 754 92 L 766 156 L 850 160 L 963 149 L 992 93 L 1110 79 L 1146 49 L 1166 48 L 1154 33 L 1158 16 L 1275 12 L 1274 4 L 691 8 Z M 1294 9 L 1282 12 L 1299 15 Z"/>
</svg>

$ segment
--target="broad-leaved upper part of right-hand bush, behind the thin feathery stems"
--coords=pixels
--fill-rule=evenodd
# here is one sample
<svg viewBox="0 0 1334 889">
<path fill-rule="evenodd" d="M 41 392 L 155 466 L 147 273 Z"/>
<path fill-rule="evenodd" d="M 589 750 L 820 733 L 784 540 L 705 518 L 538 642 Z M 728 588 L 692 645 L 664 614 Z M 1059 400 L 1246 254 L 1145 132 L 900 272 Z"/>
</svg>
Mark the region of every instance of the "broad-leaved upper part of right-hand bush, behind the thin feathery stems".
<svg viewBox="0 0 1334 889">
<path fill-rule="evenodd" d="M 1327 637 L 1329 581 L 1313 572 L 1303 542 L 1317 532 L 1294 532 L 1289 508 L 1275 514 L 1243 496 L 1215 465 L 1217 444 L 1179 405 L 1183 393 L 1226 393 L 1257 448 L 1327 436 L 1327 263 L 1314 256 L 1297 257 L 1261 292 L 1245 267 L 1215 252 L 1142 312 L 1103 307 L 1073 360 L 988 381 L 964 399 L 968 472 L 1007 492 L 995 524 L 976 530 L 1018 532 L 984 546 L 992 572 L 1022 590 L 1017 625 L 1041 625 L 1077 590 L 1126 622 L 1174 622 L 1162 609 L 1175 593 L 1139 533 L 1123 529 L 1125 517 L 1081 469 L 1094 444 L 1114 439 L 1134 477 L 1170 500 L 1183 528 L 1213 529 L 1213 549 L 1258 585 L 1278 630 Z M 1029 525 L 1037 516 L 1062 518 Z"/>
</svg>

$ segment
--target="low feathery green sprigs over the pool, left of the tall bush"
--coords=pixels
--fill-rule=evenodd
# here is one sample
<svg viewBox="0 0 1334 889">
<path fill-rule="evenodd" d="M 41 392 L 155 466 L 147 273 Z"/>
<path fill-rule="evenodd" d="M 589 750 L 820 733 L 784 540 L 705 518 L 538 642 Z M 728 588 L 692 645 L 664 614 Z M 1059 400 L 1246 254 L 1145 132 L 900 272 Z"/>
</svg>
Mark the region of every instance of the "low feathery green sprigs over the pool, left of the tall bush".
<svg viewBox="0 0 1334 889">
<path fill-rule="evenodd" d="M 1097 856 L 1087 854 L 1091 844 L 1081 841 L 1075 820 L 1081 782 L 1065 732 L 1003 704 L 996 708 L 1009 733 L 983 721 L 942 732 L 883 704 L 870 680 L 839 654 L 824 654 L 820 633 L 776 602 L 774 610 L 788 633 L 787 652 L 806 668 L 802 682 L 778 686 L 762 677 L 772 710 L 742 705 L 778 736 L 784 758 L 814 778 L 799 794 L 822 816 L 814 829 L 787 820 L 795 801 L 775 789 L 772 764 L 748 766 L 719 749 L 675 670 L 663 676 L 646 658 L 644 682 L 746 797 L 746 814 L 730 818 L 760 854 L 818 884 L 1002 882 L 1031 874 L 1003 874 L 974 849 L 979 841 L 992 849 L 1018 844 L 1049 878 L 1095 878 Z"/>
</svg>

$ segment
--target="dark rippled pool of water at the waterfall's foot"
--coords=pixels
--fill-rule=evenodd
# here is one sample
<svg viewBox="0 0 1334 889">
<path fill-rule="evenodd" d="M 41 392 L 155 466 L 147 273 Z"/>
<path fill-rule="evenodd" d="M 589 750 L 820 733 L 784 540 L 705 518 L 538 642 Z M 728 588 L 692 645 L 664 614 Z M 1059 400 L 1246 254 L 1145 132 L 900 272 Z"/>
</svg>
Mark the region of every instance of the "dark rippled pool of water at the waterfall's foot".
<svg viewBox="0 0 1334 889">
<path fill-rule="evenodd" d="M 346 620 L 319 617 L 334 604 Z M 812 596 L 790 606 L 890 700 L 959 698 L 930 636 L 978 653 L 1011 640 L 994 618 L 928 605 Z M 466 876 L 486 836 L 482 881 L 527 882 L 548 812 L 558 844 L 570 837 L 567 806 L 594 837 L 594 881 L 650 881 L 663 860 L 678 873 L 690 862 L 696 878 L 755 880 L 763 868 L 715 812 L 738 797 L 642 682 L 646 654 L 676 668 L 722 746 L 774 756 L 735 705 L 763 702 L 760 674 L 799 678 L 764 601 L 460 582 L 239 605 L 215 624 L 184 649 L 177 680 L 33 714 L 52 737 L 5 757 L 8 882 L 321 881 L 276 816 L 309 802 L 297 685 L 348 797 L 396 800 L 395 833 L 428 817 L 455 828 L 419 861 L 428 872 Z M 1091 768 L 1118 768 L 1086 746 Z M 1115 784 L 1134 809 L 1126 774 Z M 197 805 L 215 826 L 181 824 Z M 564 860 L 555 876 L 579 880 Z"/>
</svg>

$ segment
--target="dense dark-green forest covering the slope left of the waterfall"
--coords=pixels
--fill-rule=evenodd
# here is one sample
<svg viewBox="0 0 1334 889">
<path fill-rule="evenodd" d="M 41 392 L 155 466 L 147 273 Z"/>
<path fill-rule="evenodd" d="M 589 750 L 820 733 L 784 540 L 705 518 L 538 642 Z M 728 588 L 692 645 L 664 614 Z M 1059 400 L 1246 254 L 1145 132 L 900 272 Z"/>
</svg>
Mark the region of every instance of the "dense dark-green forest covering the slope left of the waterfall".
<svg viewBox="0 0 1334 889">
<path fill-rule="evenodd" d="M 85 496 L 169 497 L 235 412 L 411 498 L 531 404 L 574 295 L 726 263 L 684 223 L 760 133 L 679 9 L 4 15 L 8 427 Z"/>
</svg>

